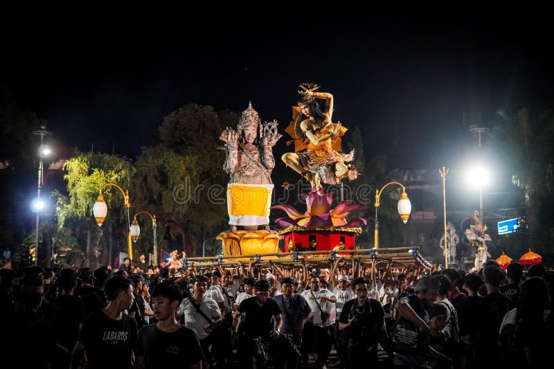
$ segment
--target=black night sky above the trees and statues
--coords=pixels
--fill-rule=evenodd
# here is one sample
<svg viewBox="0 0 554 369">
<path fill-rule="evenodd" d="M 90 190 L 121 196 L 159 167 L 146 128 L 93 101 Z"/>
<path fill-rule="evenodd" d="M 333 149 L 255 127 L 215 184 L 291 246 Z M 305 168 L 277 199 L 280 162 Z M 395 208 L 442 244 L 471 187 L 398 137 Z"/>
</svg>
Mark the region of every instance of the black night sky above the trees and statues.
<svg viewBox="0 0 554 369">
<path fill-rule="evenodd" d="M 334 120 L 361 129 L 366 155 L 396 135 L 405 168 L 455 167 L 476 143 L 469 125 L 497 125 L 498 109 L 554 107 L 540 9 L 305 4 L 5 23 L 1 83 L 64 145 L 129 157 L 190 102 L 242 111 L 251 100 L 285 129 L 300 82 L 333 93 Z"/>
</svg>

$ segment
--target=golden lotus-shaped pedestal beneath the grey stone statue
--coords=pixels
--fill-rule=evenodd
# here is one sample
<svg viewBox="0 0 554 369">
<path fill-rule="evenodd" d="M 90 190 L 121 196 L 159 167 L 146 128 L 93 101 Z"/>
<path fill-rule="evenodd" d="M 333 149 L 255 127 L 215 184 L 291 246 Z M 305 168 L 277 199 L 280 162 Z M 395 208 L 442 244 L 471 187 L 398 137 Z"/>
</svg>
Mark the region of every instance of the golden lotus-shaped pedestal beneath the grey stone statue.
<svg viewBox="0 0 554 369">
<path fill-rule="evenodd" d="M 222 232 L 217 236 L 217 240 L 223 242 L 223 255 L 226 260 L 247 260 L 246 258 L 229 258 L 229 256 L 280 252 L 278 233 L 265 230 Z M 265 258 L 274 259 L 277 256 Z"/>
</svg>

